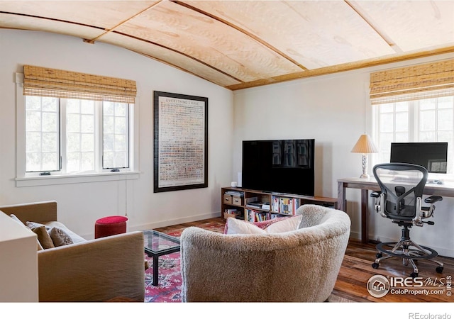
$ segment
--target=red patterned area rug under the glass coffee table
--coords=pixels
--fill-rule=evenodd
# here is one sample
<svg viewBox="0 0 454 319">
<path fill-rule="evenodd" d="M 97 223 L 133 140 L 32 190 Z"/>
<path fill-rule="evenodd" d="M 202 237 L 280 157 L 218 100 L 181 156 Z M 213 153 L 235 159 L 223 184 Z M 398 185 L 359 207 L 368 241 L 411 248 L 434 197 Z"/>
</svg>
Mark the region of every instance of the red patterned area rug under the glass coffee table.
<svg viewBox="0 0 454 319">
<path fill-rule="evenodd" d="M 168 228 L 168 230 L 160 231 L 179 237 L 184 228 L 188 226 L 183 225 L 181 228 Z M 216 233 L 223 233 L 224 231 L 223 223 L 206 222 L 197 225 L 197 227 Z M 145 260 L 148 261 L 150 267 L 145 271 L 145 303 L 182 302 L 182 274 L 179 257 L 179 252 L 159 257 L 159 286 L 153 286 L 153 258 L 145 254 Z"/>
</svg>

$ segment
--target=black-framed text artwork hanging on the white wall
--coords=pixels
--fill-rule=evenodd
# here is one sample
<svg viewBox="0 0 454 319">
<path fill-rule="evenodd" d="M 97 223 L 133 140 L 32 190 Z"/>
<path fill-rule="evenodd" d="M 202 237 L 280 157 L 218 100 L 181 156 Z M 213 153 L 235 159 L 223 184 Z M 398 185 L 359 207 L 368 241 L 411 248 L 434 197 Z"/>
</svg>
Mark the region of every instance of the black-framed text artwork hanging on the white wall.
<svg viewBox="0 0 454 319">
<path fill-rule="evenodd" d="M 154 192 L 208 187 L 208 98 L 154 91 Z"/>
</svg>

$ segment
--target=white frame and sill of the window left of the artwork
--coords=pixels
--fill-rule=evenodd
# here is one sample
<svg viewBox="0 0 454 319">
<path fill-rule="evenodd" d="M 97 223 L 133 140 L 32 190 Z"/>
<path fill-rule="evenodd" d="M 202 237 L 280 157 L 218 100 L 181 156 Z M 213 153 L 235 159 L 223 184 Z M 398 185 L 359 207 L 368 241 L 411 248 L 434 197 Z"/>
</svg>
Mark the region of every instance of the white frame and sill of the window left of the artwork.
<svg viewBox="0 0 454 319">
<path fill-rule="evenodd" d="M 16 187 L 87 183 L 95 181 L 118 181 L 138 179 L 138 136 L 139 107 L 138 99 L 131 105 L 129 116 L 129 167 L 111 172 L 103 169 L 99 172 L 55 174 L 40 176 L 38 173 L 26 172 L 26 99 L 23 95 L 23 73 L 16 73 Z M 101 163 L 102 168 L 102 163 Z"/>
</svg>

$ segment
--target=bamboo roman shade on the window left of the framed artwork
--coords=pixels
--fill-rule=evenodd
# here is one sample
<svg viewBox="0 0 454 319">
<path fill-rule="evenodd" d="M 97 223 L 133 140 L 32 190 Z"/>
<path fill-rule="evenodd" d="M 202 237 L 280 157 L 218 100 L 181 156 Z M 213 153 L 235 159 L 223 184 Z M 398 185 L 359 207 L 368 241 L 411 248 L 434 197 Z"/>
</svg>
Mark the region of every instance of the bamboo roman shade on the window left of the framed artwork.
<svg viewBox="0 0 454 319">
<path fill-rule="evenodd" d="M 23 94 L 134 103 L 136 89 L 128 79 L 24 65 Z"/>
</svg>

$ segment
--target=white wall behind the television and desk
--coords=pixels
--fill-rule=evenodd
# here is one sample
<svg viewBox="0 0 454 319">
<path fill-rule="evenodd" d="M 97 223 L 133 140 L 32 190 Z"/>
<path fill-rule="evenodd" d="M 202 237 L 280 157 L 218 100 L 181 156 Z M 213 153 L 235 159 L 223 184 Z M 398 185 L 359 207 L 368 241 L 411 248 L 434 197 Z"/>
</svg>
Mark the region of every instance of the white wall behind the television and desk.
<svg viewBox="0 0 454 319">
<path fill-rule="evenodd" d="M 437 58 L 448 57 L 454 55 Z M 361 155 L 350 151 L 362 133 L 371 133 L 368 98 L 370 72 L 434 59 L 400 62 L 235 91 L 232 179 L 241 170 L 242 140 L 314 138 L 315 194 L 337 197 L 338 179 L 360 177 L 362 173 Z M 370 158 L 369 173 L 374 164 L 372 160 Z M 347 213 L 352 220 L 352 236 L 359 238 L 360 190 L 347 189 L 346 196 Z M 438 203 L 433 219 L 435 225 L 412 228 L 412 239 L 421 245 L 433 247 L 439 254 L 454 257 L 453 203 L 454 198 L 444 198 Z M 397 225 L 377 216 L 371 209 L 369 214 L 370 238 L 383 241 L 399 239 L 401 233 Z"/>
</svg>

